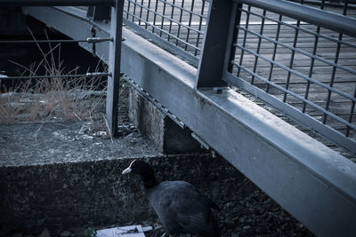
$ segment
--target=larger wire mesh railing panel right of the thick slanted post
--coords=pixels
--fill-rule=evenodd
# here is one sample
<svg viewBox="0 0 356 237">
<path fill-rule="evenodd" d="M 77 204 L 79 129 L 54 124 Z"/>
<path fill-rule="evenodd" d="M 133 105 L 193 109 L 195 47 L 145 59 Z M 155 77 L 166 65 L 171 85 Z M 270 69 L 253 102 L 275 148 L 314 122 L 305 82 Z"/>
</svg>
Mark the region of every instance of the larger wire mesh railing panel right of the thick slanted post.
<svg viewBox="0 0 356 237">
<path fill-rule="evenodd" d="M 241 11 L 225 80 L 355 150 L 356 39 L 247 4 Z"/>
</svg>

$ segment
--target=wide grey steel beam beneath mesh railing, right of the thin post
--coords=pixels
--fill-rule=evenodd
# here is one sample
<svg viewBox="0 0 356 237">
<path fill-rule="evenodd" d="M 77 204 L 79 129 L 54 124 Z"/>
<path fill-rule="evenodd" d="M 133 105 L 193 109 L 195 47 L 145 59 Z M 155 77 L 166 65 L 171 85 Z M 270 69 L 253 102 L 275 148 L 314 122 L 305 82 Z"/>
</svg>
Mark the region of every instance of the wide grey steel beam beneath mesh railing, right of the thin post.
<svg viewBox="0 0 356 237">
<path fill-rule="evenodd" d="M 313 233 L 354 236 L 355 163 L 235 91 L 195 90 L 197 69 L 125 28 L 123 36 L 126 75 Z"/>
</svg>

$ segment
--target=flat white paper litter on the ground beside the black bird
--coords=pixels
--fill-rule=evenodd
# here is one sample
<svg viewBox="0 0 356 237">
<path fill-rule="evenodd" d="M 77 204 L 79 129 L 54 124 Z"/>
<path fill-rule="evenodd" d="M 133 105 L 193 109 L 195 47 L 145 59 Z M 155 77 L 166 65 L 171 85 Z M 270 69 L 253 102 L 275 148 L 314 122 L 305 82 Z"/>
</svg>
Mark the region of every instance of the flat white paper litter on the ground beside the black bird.
<svg viewBox="0 0 356 237">
<path fill-rule="evenodd" d="M 97 237 L 145 237 L 141 225 L 120 226 L 97 231 Z"/>
</svg>

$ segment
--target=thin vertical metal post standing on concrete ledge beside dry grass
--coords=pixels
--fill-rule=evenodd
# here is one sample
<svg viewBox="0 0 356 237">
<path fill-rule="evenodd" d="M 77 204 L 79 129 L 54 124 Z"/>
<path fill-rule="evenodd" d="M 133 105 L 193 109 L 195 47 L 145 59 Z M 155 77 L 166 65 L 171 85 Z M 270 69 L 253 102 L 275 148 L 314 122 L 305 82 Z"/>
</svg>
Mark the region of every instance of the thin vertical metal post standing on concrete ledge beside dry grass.
<svg viewBox="0 0 356 237">
<path fill-rule="evenodd" d="M 117 135 L 117 104 L 120 80 L 121 38 L 124 0 L 116 0 L 115 7 L 111 8 L 110 36 L 113 40 L 109 43 L 109 73 L 106 99 L 106 118 L 112 136 Z"/>
</svg>

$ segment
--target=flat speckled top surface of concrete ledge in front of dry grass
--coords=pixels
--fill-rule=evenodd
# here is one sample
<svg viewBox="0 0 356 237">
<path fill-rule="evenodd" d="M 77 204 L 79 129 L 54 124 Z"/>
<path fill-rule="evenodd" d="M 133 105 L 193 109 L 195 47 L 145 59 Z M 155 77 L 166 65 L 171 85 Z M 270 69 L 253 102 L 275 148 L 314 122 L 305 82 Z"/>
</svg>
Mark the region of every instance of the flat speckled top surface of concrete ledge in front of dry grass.
<svg viewBox="0 0 356 237">
<path fill-rule="evenodd" d="M 111 141 L 88 122 L 34 122 L 0 125 L 0 165 L 20 166 L 159 156 L 134 129 Z M 102 138 L 106 137 L 106 138 Z"/>
</svg>

